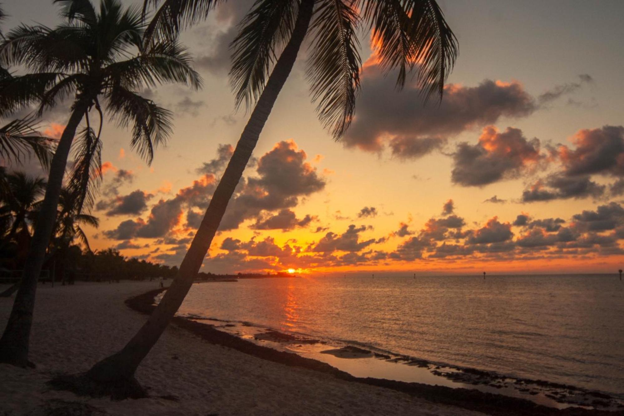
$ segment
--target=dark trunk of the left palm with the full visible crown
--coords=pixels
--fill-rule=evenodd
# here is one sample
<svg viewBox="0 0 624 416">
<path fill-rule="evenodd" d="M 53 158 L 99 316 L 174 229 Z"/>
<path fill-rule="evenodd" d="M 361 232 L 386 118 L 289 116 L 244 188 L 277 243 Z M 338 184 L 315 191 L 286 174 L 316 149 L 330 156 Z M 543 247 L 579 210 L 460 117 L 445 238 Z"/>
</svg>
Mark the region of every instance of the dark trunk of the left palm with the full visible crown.
<svg viewBox="0 0 624 416">
<path fill-rule="evenodd" d="M 19 367 L 29 365 L 28 343 L 31 335 L 37 279 L 41 274 L 41 267 L 44 257 L 46 257 L 46 249 L 56 220 L 56 209 L 59 204 L 67 156 L 69 156 L 69 149 L 76 135 L 76 129 L 85 111 L 87 111 L 87 104 L 82 100 L 77 101 L 59 145 L 54 152 L 54 157 L 52 157 L 46 196 L 37 215 L 37 224 L 26 257 L 26 264 L 24 264 L 24 274 L 22 274 L 19 290 L 17 290 L 13 309 L 11 309 L 9 322 L 6 324 L 2 339 L 0 339 L 0 362 Z"/>
</svg>

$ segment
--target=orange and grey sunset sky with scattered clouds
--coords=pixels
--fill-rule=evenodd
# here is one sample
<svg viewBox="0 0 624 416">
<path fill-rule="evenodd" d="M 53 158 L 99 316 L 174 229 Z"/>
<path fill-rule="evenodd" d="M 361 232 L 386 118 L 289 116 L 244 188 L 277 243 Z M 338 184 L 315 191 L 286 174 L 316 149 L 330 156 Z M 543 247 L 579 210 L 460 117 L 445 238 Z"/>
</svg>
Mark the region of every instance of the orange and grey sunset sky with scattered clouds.
<svg viewBox="0 0 624 416">
<path fill-rule="evenodd" d="M 125 4 L 139 4 L 127 1 Z M 245 126 L 228 44 L 248 0 L 184 32 L 201 91 L 143 93 L 175 112 L 151 166 L 107 122 L 93 249 L 177 265 Z M 266 123 L 202 271 L 298 274 L 615 272 L 624 250 L 624 2 L 439 1 L 459 41 L 440 103 L 394 88 L 360 34 L 361 94 L 340 141 L 305 79 Z M 50 1 L 8 0 L 5 30 L 54 25 Z M 59 134 L 67 107 L 42 121 Z"/>
</svg>

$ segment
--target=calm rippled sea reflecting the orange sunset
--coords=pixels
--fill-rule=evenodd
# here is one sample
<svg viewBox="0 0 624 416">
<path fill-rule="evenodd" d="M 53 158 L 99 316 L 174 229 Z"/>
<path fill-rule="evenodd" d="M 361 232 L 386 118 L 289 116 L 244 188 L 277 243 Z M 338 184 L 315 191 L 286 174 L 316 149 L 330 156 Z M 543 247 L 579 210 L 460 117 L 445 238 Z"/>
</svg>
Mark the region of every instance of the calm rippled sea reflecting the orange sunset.
<svg viewBox="0 0 624 416">
<path fill-rule="evenodd" d="M 624 394 L 613 275 L 241 279 L 193 285 L 180 314 Z"/>
</svg>

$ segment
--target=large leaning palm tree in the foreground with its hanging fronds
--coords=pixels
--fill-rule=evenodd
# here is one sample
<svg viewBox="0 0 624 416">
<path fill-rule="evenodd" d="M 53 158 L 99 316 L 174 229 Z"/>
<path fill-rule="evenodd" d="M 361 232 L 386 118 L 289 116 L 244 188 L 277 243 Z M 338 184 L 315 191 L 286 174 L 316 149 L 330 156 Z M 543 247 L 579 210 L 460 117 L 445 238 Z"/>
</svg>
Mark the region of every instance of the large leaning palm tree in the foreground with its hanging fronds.
<svg viewBox="0 0 624 416">
<path fill-rule="evenodd" d="M 146 0 L 145 6 L 158 2 Z M 147 37 L 152 41 L 167 39 L 205 18 L 218 2 L 165 0 L 147 29 Z M 134 372 L 190 289 L 307 34 L 311 35 L 307 75 L 312 99 L 318 102 L 319 119 L 335 139 L 343 135 L 353 118 L 359 91 L 361 60 L 356 33 L 363 22 L 379 41 L 381 65 L 386 71 L 399 72 L 397 86 L 401 87 L 407 72 L 415 69 L 424 96 L 434 92 L 441 96 L 457 45 L 436 1 L 256 0 L 232 43 L 230 77 L 236 104 L 255 104 L 232 159 L 158 307 L 124 349 L 95 364 L 86 377 L 102 384 L 125 381 L 137 385 Z"/>
</svg>

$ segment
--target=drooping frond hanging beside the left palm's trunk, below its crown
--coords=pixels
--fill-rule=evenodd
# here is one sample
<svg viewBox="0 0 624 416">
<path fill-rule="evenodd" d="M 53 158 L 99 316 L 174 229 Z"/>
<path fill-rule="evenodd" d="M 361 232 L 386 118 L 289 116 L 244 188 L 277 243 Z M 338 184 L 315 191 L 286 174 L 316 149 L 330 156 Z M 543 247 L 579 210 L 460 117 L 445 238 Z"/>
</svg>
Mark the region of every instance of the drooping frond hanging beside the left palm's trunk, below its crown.
<svg viewBox="0 0 624 416">
<path fill-rule="evenodd" d="M 74 142 L 74 168 L 67 189 L 75 199 L 74 209 L 90 211 L 102 183 L 102 142 L 94 129 L 85 127 Z"/>
</svg>

